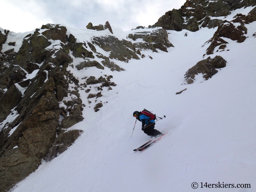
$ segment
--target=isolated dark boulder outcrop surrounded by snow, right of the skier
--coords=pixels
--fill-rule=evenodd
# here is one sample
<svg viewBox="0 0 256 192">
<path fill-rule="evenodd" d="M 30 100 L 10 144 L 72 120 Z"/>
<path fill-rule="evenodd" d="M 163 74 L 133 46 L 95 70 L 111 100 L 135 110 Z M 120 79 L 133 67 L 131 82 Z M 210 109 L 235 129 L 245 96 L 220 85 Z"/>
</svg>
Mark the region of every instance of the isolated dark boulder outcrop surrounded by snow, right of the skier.
<svg viewBox="0 0 256 192">
<path fill-rule="evenodd" d="M 208 57 L 205 60 L 201 60 L 196 65 L 186 72 L 186 82 L 188 84 L 191 84 L 195 80 L 195 75 L 198 75 L 199 73 L 204 74 L 205 80 L 208 80 L 209 78 L 212 78 L 213 75 L 218 73 L 216 68 L 223 68 L 226 67 L 227 61 L 224 60 L 221 56 L 215 56 L 213 59 Z"/>
</svg>

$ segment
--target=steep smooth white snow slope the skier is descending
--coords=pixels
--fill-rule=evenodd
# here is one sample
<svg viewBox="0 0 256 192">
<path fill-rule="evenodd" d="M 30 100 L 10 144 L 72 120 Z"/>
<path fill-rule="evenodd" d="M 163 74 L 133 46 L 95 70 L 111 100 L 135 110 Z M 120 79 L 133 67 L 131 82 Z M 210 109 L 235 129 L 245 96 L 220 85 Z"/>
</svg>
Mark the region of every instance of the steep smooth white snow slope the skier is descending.
<svg viewBox="0 0 256 192">
<path fill-rule="evenodd" d="M 142 51 L 144 59 L 116 61 L 125 69 L 122 72 L 106 68 L 104 73 L 113 75 L 117 86 L 105 90 L 104 97 L 99 98 L 104 103 L 100 111 L 95 113 L 86 105 L 84 120 L 70 128 L 82 129 L 84 133 L 66 152 L 51 162 L 43 162 L 13 192 L 194 191 L 193 182 L 199 184 L 198 188 L 201 182 L 251 184 L 244 191 L 253 191 L 256 22 L 245 27 L 248 37 L 243 43 L 225 38 L 230 51 L 210 55 L 220 55 L 227 60 L 227 66 L 207 81 L 199 74 L 195 83 L 184 84 L 184 74 L 203 59 L 206 48 L 202 45 L 212 38 L 216 28 L 196 32 L 169 30 L 169 41 L 174 47 L 168 48 L 168 52 Z M 118 38 L 131 33 L 112 28 Z M 68 33 L 80 42 L 91 38 L 89 30 L 83 34 L 79 30 L 68 28 Z M 104 31 L 98 33 L 101 36 Z M 96 68 L 68 68 L 79 80 L 92 70 L 101 75 Z M 185 88 L 186 91 L 175 94 Z M 82 100 L 87 100 L 87 93 L 79 93 Z M 131 138 L 135 123 L 132 113 L 143 108 L 157 116 L 166 115 L 156 123 L 156 129 L 168 133 L 145 151 L 134 152 L 149 139 L 141 131 L 140 122 Z"/>
</svg>

